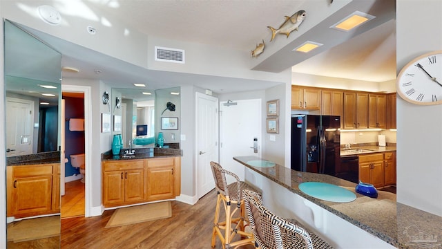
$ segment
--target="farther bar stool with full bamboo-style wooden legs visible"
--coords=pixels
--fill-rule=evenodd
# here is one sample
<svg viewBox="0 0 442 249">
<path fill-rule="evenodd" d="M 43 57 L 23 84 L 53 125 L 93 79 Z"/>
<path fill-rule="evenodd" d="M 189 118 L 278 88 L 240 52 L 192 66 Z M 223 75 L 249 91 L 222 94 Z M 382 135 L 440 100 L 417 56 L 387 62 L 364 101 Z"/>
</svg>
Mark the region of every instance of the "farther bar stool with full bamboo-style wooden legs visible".
<svg viewBox="0 0 442 249">
<path fill-rule="evenodd" d="M 253 235 L 249 232 L 244 232 L 244 227 L 248 223 L 245 216 L 242 190 L 249 189 L 255 192 L 257 190 L 240 181 L 236 174 L 223 169 L 218 163 L 210 162 L 210 165 L 215 180 L 215 187 L 218 191 L 215 219 L 213 221 L 212 248 L 215 248 L 217 236 L 220 238 L 222 248 L 238 248 L 245 244 L 253 245 Z M 233 176 L 236 179 L 236 183 L 227 185 L 226 174 Z M 224 208 L 225 211 L 225 221 L 220 221 L 221 208 Z M 241 239 L 233 241 L 237 234 L 240 235 Z"/>
</svg>

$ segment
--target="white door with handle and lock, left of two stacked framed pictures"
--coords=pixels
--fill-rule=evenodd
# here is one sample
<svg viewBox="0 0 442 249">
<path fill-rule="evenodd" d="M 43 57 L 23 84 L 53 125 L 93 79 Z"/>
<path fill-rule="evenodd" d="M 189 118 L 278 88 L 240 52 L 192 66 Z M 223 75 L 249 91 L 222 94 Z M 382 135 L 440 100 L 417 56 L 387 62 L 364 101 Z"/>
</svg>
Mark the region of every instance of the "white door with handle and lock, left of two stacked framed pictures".
<svg viewBox="0 0 442 249">
<path fill-rule="evenodd" d="M 261 156 L 261 100 L 220 102 L 221 166 L 244 181 L 244 166 L 233 156 Z M 256 140 L 256 149 L 253 147 Z M 228 183 L 233 178 L 227 178 Z"/>
</svg>

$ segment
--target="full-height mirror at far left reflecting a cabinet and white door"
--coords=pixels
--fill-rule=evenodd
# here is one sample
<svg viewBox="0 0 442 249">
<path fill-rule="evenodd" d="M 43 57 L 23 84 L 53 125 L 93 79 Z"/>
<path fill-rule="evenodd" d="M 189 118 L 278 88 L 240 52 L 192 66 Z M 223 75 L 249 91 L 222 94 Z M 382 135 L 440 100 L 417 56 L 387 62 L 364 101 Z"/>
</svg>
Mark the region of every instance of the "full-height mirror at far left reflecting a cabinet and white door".
<svg viewBox="0 0 442 249">
<path fill-rule="evenodd" d="M 59 233 L 60 195 L 55 169 L 60 161 L 61 54 L 18 25 L 7 20 L 3 24 L 8 248 L 30 248 L 42 239 L 58 248 L 60 237 L 54 234 Z M 51 164 L 31 163 L 49 157 Z M 41 234 L 48 229 L 35 232 L 29 223 L 54 229 L 48 237 Z"/>
</svg>

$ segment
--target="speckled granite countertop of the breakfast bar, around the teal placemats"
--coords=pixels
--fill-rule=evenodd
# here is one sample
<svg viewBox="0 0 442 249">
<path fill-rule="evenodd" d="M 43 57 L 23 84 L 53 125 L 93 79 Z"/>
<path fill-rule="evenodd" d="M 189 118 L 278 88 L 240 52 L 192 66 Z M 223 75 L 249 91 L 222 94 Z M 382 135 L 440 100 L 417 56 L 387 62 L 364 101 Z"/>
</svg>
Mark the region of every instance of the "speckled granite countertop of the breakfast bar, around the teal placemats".
<svg viewBox="0 0 442 249">
<path fill-rule="evenodd" d="M 236 156 L 233 159 L 396 248 L 442 248 L 442 217 L 396 203 L 396 194 L 378 191 L 378 199 L 372 199 L 356 193 L 355 183 L 334 176 L 298 172 L 278 164 L 273 167 L 248 165 L 249 160 L 265 160 L 256 156 Z M 334 203 L 316 199 L 299 190 L 298 185 L 303 182 L 345 187 L 356 194 L 356 200 Z"/>
</svg>

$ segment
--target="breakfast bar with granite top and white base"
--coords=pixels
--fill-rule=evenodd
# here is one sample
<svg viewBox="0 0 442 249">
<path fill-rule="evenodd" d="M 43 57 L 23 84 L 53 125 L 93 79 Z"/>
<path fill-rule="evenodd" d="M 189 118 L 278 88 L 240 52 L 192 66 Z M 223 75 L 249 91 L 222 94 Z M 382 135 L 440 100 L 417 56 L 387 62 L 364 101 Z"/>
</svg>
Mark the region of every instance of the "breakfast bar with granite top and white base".
<svg viewBox="0 0 442 249">
<path fill-rule="evenodd" d="M 355 191 L 356 184 L 334 176 L 298 172 L 276 163 L 264 167 L 249 162 L 256 156 L 233 158 L 246 167 L 245 181 L 262 190 L 267 208 L 280 216 L 298 219 L 336 248 L 422 248 L 441 246 L 442 218 L 396 203 L 396 194 L 378 191 L 373 199 Z M 273 165 L 273 166 L 272 166 Z M 316 199 L 299 188 L 319 182 L 356 194 L 349 202 Z"/>
</svg>

